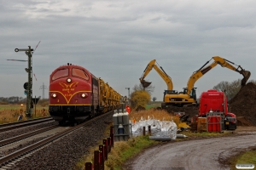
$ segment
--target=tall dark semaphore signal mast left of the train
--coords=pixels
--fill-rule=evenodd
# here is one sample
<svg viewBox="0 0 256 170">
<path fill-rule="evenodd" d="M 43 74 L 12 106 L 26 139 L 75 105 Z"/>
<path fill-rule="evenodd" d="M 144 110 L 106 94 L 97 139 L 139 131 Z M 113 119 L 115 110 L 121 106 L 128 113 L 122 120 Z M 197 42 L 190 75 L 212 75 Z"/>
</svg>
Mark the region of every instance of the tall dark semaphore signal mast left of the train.
<svg viewBox="0 0 256 170">
<path fill-rule="evenodd" d="M 25 91 L 24 93 L 26 94 L 26 116 L 31 117 L 32 116 L 32 51 L 33 48 L 31 46 L 28 46 L 28 48 L 15 48 L 15 52 L 19 51 L 25 51 L 25 54 L 28 57 L 28 66 L 25 68 L 25 71 L 28 74 L 28 80 L 27 82 L 24 83 L 24 88 Z"/>
</svg>

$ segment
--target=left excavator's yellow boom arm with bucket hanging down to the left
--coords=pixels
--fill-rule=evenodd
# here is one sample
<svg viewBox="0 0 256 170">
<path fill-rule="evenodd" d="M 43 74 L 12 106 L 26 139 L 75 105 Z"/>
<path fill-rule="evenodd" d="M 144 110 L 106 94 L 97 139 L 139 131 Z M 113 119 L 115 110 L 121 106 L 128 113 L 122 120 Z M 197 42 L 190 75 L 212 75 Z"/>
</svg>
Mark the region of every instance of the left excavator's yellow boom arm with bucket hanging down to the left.
<svg viewBox="0 0 256 170">
<path fill-rule="evenodd" d="M 172 86 L 172 79 L 171 77 L 169 77 L 166 72 L 161 68 L 155 65 L 155 59 L 153 59 L 152 61 L 150 61 L 146 67 L 146 69 L 143 72 L 143 76 L 140 78 L 141 83 L 143 84 L 143 88 L 147 88 L 151 82 L 146 82 L 144 80 L 145 77 L 147 77 L 148 73 L 154 68 L 154 70 L 160 75 L 160 77 L 162 77 L 162 79 L 166 82 L 167 88 L 168 90 L 172 90 L 173 86 Z"/>
</svg>

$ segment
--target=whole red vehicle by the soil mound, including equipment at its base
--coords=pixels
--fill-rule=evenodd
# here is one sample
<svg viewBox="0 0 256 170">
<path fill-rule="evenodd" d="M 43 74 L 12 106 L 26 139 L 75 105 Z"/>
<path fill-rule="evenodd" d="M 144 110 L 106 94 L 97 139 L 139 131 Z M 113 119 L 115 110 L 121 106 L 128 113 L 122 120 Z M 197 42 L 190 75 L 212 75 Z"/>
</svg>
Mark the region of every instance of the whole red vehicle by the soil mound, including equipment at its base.
<svg viewBox="0 0 256 170">
<path fill-rule="evenodd" d="M 221 132 L 236 130 L 236 115 L 228 111 L 227 97 L 224 92 L 208 90 L 200 97 L 198 115 L 191 122 L 188 115 L 180 116 L 181 122 L 187 122 L 192 131 Z"/>
</svg>

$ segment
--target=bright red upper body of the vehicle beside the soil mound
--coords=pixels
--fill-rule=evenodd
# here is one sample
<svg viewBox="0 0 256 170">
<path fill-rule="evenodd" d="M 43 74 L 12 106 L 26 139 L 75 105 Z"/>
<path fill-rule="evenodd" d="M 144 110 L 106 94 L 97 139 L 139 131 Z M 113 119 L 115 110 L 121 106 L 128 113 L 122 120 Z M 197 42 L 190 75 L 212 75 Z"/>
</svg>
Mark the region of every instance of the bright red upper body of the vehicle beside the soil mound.
<svg viewBox="0 0 256 170">
<path fill-rule="evenodd" d="M 227 115 L 227 97 L 223 92 L 217 90 L 208 90 L 203 92 L 200 98 L 199 116 L 206 116 L 207 112 L 223 112 Z"/>
</svg>

